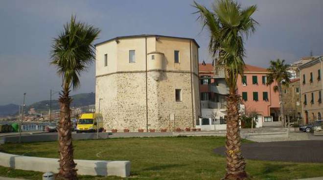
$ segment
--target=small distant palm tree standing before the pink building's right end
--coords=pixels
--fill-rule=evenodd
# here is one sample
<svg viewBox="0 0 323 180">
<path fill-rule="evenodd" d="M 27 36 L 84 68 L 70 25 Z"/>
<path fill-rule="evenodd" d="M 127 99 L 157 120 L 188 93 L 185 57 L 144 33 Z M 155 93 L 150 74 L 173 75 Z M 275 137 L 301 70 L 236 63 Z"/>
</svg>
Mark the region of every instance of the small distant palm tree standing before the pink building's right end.
<svg viewBox="0 0 323 180">
<path fill-rule="evenodd" d="M 274 86 L 274 91 L 279 93 L 280 104 L 280 117 L 283 125 L 286 126 L 284 107 L 282 103 L 282 89 L 281 86 L 288 86 L 291 78 L 291 74 L 287 71 L 288 65 L 285 64 L 285 60 L 277 59 L 276 61 L 270 61 L 270 67 L 267 69 L 270 73 L 267 75 L 267 86 L 277 82 Z"/>
</svg>

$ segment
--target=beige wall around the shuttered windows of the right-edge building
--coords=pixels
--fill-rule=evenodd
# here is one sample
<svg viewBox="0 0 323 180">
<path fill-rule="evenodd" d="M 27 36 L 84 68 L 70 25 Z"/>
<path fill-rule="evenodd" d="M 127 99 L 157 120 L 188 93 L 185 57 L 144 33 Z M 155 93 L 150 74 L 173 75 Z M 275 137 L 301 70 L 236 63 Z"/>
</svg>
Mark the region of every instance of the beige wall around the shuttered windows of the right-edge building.
<svg viewBox="0 0 323 180">
<path fill-rule="evenodd" d="M 321 69 L 321 80 L 318 78 L 318 69 Z M 310 72 L 313 73 L 313 82 L 310 83 Z M 323 114 L 323 103 L 319 103 L 319 91 L 322 93 L 322 62 L 316 63 L 310 67 L 300 69 L 300 87 L 301 87 L 301 101 L 304 102 L 304 94 L 306 94 L 307 104 L 302 104 L 303 122 L 306 123 L 305 111 L 308 112 L 308 122 L 317 120 L 318 112 Z M 305 84 L 303 84 L 303 74 L 305 74 Z M 314 93 L 314 104 L 311 104 L 312 95 Z M 314 113 L 314 116 L 313 116 Z"/>
</svg>

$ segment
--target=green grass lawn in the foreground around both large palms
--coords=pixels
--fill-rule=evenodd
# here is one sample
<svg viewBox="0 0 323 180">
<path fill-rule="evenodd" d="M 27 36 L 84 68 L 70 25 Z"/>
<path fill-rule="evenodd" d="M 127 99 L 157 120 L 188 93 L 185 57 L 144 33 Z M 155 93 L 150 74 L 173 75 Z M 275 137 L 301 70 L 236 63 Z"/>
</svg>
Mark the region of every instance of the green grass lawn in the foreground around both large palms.
<svg viewBox="0 0 323 180">
<path fill-rule="evenodd" d="M 73 143 L 76 159 L 130 160 L 130 180 L 219 180 L 225 174 L 226 159 L 213 153 L 214 148 L 225 144 L 224 137 L 116 138 Z M 4 144 L 0 151 L 58 158 L 57 147 L 57 142 Z M 323 176 L 323 164 L 247 160 L 247 172 L 253 180 L 291 180 Z M 41 174 L 0 167 L 0 176 L 37 180 Z M 122 180 L 90 176 L 80 179 Z"/>
</svg>

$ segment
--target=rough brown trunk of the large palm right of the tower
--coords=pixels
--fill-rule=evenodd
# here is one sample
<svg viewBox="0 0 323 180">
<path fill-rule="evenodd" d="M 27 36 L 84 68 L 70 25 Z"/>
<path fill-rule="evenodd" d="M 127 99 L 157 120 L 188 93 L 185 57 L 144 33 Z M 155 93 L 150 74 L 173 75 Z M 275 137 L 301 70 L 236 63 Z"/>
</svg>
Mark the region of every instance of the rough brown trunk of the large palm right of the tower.
<svg viewBox="0 0 323 180">
<path fill-rule="evenodd" d="M 247 179 L 246 162 L 241 153 L 241 138 L 239 128 L 238 102 L 239 96 L 235 90 L 230 90 L 228 97 L 227 116 L 227 173 L 223 180 L 245 180 Z"/>
</svg>

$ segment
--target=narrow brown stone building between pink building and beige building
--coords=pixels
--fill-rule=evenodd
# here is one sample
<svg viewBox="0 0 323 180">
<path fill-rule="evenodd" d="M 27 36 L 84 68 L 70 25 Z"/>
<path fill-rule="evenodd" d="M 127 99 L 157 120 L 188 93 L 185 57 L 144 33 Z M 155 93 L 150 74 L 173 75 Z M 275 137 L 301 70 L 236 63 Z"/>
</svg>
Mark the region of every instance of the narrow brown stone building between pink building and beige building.
<svg viewBox="0 0 323 180">
<path fill-rule="evenodd" d="M 282 102 L 285 119 L 289 119 L 290 122 L 302 123 L 300 79 L 291 79 L 289 86 L 282 86 Z"/>
</svg>

